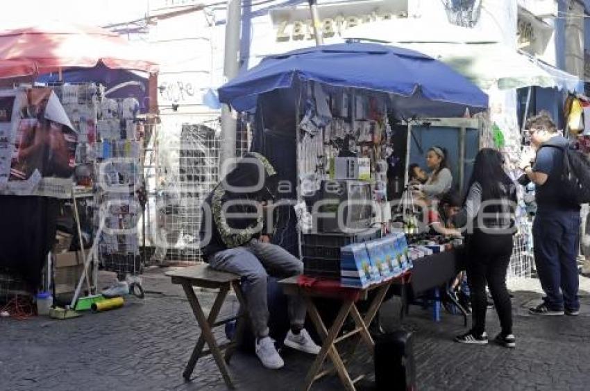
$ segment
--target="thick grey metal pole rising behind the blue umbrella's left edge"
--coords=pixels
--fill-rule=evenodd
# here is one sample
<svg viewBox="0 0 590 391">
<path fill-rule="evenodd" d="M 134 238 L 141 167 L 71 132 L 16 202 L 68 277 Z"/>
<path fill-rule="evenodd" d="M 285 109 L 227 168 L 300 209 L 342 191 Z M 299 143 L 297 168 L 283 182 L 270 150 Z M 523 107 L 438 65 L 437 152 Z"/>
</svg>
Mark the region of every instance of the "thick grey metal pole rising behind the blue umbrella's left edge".
<svg viewBox="0 0 590 391">
<path fill-rule="evenodd" d="M 229 81 L 239 71 L 239 30 L 242 17 L 242 1 L 228 1 L 228 17 L 226 21 L 226 46 L 224 54 L 224 79 Z M 221 107 L 221 150 L 219 156 L 220 176 L 226 173 L 225 167 L 230 159 L 235 157 L 236 119 L 230 107 Z"/>
</svg>

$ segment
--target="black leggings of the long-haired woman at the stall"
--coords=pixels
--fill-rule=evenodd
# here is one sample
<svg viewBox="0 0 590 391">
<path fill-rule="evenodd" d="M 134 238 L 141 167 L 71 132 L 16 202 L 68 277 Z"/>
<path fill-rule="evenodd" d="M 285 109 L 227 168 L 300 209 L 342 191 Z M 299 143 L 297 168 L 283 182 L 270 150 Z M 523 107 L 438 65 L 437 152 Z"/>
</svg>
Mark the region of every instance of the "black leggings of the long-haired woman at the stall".
<svg viewBox="0 0 590 391">
<path fill-rule="evenodd" d="M 503 335 L 512 334 L 512 303 L 506 288 L 506 271 L 512 254 L 512 235 L 473 234 L 467 241 L 466 270 L 471 289 L 471 331 L 481 335 L 485 331 L 487 297 L 486 281 L 494 299 L 494 306 Z"/>
</svg>

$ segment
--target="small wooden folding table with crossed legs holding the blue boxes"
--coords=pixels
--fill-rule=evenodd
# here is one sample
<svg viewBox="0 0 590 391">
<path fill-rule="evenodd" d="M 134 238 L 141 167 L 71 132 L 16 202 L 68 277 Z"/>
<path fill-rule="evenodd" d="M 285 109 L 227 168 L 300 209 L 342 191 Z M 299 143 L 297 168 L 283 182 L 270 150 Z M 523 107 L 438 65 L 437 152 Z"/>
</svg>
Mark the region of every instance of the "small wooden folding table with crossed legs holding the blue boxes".
<svg viewBox="0 0 590 391">
<path fill-rule="evenodd" d="M 397 277 L 396 279 L 405 279 L 407 275 L 402 275 Z M 359 345 L 360 341 L 357 340 L 352 343 L 351 348 L 347 351 L 348 358 L 343 360 L 342 356 L 339 354 L 339 351 L 336 347 L 338 342 L 342 342 L 348 338 L 351 338 L 357 334 L 360 334 L 360 340 L 364 342 L 366 347 L 369 347 L 370 351 L 373 351 L 373 347 L 375 347 L 375 342 L 373 342 L 373 338 L 371 334 L 367 330 L 367 327 L 375 318 L 383 299 L 385 299 L 385 294 L 387 290 L 393 284 L 396 279 L 389 279 L 388 281 L 382 281 L 379 284 L 371 285 L 367 288 L 342 288 L 342 292 L 335 292 L 335 291 L 326 291 L 321 290 L 321 288 L 314 288 L 311 287 L 303 287 L 297 284 L 298 277 L 291 277 L 288 279 L 283 279 L 279 281 L 279 284 L 283 287 L 285 294 L 287 295 L 301 295 L 305 299 L 305 303 L 307 304 L 307 313 L 310 315 L 314 326 L 317 329 L 317 332 L 322 340 L 321 349 L 319 354 L 317 355 L 312 367 L 310 368 L 309 372 L 307 372 L 307 376 L 305 377 L 305 386 L 304 390 L 310 390 L 312 384 L 317 379 L 321 379 L 321 377 L 326 376 L 326 374 L 330 374 L 334 370 L 337 372 L 340 381 L 344 385 L 344 388 L 349 391 L 354 391 L 355 383 L 360 381 L 364 378 L 364 375 L 358 376 L 356 379 L 351 379 L 351 376 L 348 374 L 346 370 L 346 366 L 344 365 L 346 362 L 349 362 L 355 353 L 357 346 Z M 369 306 L 369 310 L 366 312 L 364 317 L 360 315 L 355 302 L 357 300 L 367 299 L 369 297 L 369 292 L 371 290 L 377 290 L 377 294 L 373 297 L 371 304 Z M 326 329 L 326 325 L 321 320 L 321 316 L 317 310 L 313 302 L 314 297 L 322 297 L 326 299 L 335 299 L 340 302 L 340 309 L 338 311 L 338 315 L 330 327 L 329 330 Z M 344 333 L 342 336 L 339 336 L 340 331 L 342 331 L 342 326 L 348 318 L 348 315 L 351 315 L 354 322 L 355 322 L 355 329 Z M 334 368 L 331 370 L 322 370 L 323 362 L 326 360 L 327 357 L 330 357 Z"/>
</svg>

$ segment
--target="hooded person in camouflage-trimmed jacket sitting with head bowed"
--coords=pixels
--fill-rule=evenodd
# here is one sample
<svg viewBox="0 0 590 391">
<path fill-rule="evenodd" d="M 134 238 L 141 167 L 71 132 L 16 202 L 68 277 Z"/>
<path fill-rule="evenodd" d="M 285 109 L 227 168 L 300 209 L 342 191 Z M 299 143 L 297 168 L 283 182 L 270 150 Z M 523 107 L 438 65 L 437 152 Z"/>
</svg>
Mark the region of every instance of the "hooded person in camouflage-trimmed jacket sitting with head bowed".
<svg viewBox="0 0 590 391">
<path fill-rule="evenodd" d="M 287 278 L 303 273 L 303 262 L 283 247 L 273 245 L 264 227 L 264 205 L 276 193 L 276 171 L 258 153 L 248 153 L 219 182 L 203 202 L 201 251 L 203 259 L 217 270 L 242 277 L 248 315 L 256 336 L 255 351 L 269 369 L 283 367 L 274 341 L 269 337 L 267 277 Z M 305 303 L 289 296 L 291 330 L 285 345 L 318 354 L 320 347 L 303 328 Z"/>
</svg>

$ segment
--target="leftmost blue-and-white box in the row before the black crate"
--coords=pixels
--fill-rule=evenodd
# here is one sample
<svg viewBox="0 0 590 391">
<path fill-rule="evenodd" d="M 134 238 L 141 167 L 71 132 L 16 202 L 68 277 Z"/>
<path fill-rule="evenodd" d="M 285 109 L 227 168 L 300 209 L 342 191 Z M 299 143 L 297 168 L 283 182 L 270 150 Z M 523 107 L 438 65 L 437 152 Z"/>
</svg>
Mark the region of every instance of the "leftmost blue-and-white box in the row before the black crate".
<svg viewBox="0 0 590 391">
<path fill-rule="evenodd" d="M 364 243 L 353 243 L 340 251 L 340 284 L 351 288 L 366 288 L 374 281 L 369 253 Z"/>
</svg>

